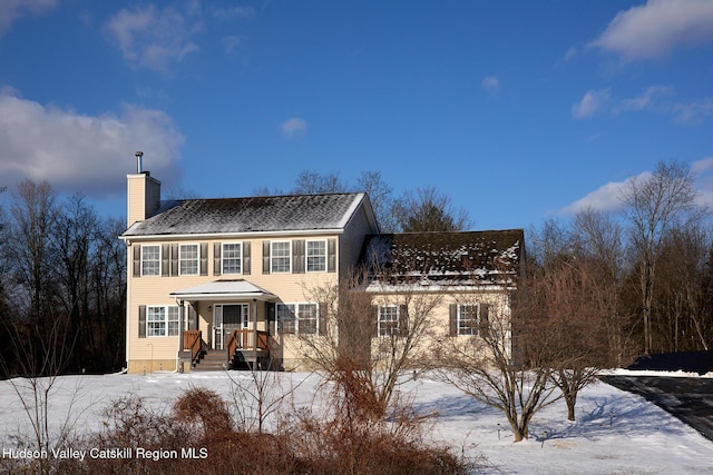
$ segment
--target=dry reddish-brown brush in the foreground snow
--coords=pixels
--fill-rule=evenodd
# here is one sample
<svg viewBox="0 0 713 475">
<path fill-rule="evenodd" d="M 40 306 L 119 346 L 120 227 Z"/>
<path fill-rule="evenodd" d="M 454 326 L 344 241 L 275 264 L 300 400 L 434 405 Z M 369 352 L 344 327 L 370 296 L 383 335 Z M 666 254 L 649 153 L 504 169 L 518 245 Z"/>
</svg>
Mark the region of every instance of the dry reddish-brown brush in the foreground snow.
<svg viewBox="0 0 713 475">
<path fill-rule="evenodd" d="M 373 403 L 369 397 L 353 396 L 343 398 L 343 393 L 335 393 L 342 400 L 334 407 L 343 408 L 345 402 Z M 351 407 L 325 418 L 307 409 L 293 409 L 282 415 L 274 433 L 261 434 L 235 431 L 226 402 L 205 388 L 186 390 L 165 414 L 127 396 L 105 410 L 100 433 L 71 446 L 87 454 L 91 448 L 129 448 L 130 457 L 57 459 L 52 473 L 391 475 L 462 474 L 469 468 L 448 448 L 424 444 L 422 420 L 410 412 L 400 412 L 389 422 L 374 420 L 371 414 L 372 408 Z M 10 473 L 33 471 L 16 466 Z"/>
</svg>

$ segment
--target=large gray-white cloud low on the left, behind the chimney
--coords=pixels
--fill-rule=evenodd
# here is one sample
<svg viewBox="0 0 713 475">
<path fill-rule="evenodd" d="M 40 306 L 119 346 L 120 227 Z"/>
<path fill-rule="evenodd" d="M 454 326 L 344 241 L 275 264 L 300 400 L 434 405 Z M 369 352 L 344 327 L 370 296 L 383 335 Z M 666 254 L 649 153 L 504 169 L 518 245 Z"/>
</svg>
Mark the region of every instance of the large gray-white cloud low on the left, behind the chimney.
<svg viewBox="0 0 713 475">
<path fill-rule="evenodd" d="M 159 110 L 125 105 L 120 116 L 92 117 L 0 90 L 2 185 L 47 180 L 58 191 L 106 198 L 124 192 L 136 150 L 145 152 L 145 169 L 174 180 L 182 141 Z"/>
</svg>

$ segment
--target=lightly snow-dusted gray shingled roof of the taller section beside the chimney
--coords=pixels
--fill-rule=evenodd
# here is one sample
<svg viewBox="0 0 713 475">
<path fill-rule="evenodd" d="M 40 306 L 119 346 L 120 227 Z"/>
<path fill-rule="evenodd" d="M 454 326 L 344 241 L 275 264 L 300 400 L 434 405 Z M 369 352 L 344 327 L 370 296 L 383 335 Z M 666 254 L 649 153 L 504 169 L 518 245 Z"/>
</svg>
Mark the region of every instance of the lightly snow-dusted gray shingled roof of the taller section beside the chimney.
<svg viewBox="0 0 713 475">
<path fill-rule="evenodd" d="M 363 199 L 334 194 L 166 201 L 121 237 L 341 229 Z"/>
</svg>

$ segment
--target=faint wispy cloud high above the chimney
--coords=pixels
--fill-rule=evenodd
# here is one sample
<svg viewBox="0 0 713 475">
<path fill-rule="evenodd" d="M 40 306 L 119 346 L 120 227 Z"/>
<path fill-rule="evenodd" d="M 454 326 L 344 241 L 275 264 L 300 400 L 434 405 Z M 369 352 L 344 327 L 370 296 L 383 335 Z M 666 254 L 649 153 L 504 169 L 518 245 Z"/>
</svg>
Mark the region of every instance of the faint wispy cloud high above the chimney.
<svg viewBox="0 0 713 475">
<path fill-rule="evenodd" d="M 198 10 L 182 13 L 170 7 L 140 6 L 119 10 L 105 29 L 129 65 L 166 71 L 198 50 L 192 38 L 203 29 L 199 18 Z"/>
</svg>

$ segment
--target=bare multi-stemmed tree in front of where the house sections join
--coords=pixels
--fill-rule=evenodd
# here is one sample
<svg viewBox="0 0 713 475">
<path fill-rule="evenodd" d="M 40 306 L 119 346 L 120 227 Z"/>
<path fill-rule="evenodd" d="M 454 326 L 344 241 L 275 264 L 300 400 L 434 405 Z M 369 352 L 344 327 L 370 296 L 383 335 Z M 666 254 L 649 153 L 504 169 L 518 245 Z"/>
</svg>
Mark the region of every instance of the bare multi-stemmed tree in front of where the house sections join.
<svg viewBox="0 0 713 475">
<path fill-rule="evenodd" d="M 381 269 L 380 278 L 364 270 L 343 287 L 331 285 L 305 290 L 322 303 L 322 328 L 301 335 L 305 358 L 326 372 L 344 398 L 358 410 L 354 417 L 378 419 L 389 408 L 402 376 L 426 366 L 427 337 L 438 293 L 423 293 L 417 281 L 393 280 Z M 359 409 L 355 409 L 359 408 Z"/>
</svg>

